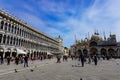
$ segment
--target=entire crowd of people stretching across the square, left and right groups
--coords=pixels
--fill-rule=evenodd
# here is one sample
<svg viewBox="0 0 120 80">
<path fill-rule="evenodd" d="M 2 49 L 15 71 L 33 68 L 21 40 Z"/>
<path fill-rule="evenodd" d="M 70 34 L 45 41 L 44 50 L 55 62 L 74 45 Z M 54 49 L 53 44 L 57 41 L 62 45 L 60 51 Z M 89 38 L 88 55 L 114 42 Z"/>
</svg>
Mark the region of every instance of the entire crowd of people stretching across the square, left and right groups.
<svg viewBox="0 0 120 80">
<path fill-rule="evenodd" d="M 79 52 L 78 52 L 79 53 Z M 71 60 L 76 60 L 78 61 L 78 63 L 81 64 L 82 67 L 84 67 L 85 63 L 91 64 L 94 63 L 96 66 L 98 65 L 98 61 L 100 59 L 103 60 L 109 60 L 110 58 L 108 56 L 104 56 L 104 55 L 97 55 L 97 54 L 89 54 L 89 55 L 85 55 L 82 53 L 79 53 L 78 55 L 54 55 L 57 59 L 56 63 L 61 63 L 61 61 L 63 62 L 67 62 L 68 58 L 71 58 Z M 7 65 L 10 65 L 11 62 L 14 62 L 16 65 L 19 64 L 24 64 L 24 67 L 28 67 L 28 61 L 34 61 L 34 60 L 45 60 L 45 59 L 51 59 L 51 56 L 43 56 L 41 55 L 40 57 L 38 57 L 37 59 L 35 57 L 30 58 L 28 55 L 24 55 L 24 56 L 17 56 L 15 58 L 11 58 L 10 56 L 7 56 L 5 59 L 3 59 L 2 57 L 0 57 L 0 64 L 4 64 L 6 63 Z M 62 58 L 62 60 L 61 60 Z"/>
</svg>

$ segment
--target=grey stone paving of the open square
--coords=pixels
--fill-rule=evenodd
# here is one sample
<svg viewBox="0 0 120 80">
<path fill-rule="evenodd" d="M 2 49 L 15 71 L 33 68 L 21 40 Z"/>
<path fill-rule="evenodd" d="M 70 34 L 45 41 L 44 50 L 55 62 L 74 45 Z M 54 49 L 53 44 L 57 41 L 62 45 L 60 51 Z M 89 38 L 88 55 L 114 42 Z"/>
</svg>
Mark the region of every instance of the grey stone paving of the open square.
<svg viewBox="0 0 120 80">
<path fill-rule="evenodd" d="M 97 66 L 94 63 L 86 63 L 84 67 L 81 64 L 74 66 L 79 63 L 71 59 L 56 63 L 56 59 L 52 59 L 29 62 L 28 68 L 24 68 L 22 64 L 4 64 L 0 65 L 0 80 L 120 80 L 119 59 L 100 60 Z M 14 72 L 14 69 L 18 72 Z"/>
</svg>

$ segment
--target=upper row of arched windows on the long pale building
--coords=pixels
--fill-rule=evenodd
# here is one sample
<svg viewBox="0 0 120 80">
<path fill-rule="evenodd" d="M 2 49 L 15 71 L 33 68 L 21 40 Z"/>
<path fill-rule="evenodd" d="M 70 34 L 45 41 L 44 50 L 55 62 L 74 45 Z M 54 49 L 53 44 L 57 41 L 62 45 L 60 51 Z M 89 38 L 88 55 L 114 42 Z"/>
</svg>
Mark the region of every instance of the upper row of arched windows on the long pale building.
<svg viewBox="0 0 120 80">
<path fill-rule="evenodd" d="M 3 31 L 6 31 L 6 32 L 10 32 L 12 34 L 16 34 L 16 35 L 19 35 L 19 36 L 22 36 L 24 38 L 28 38 L 28 39 L 31 39 L 31 40 L 34 40 L 36 42 L 47 42 L 47 43 L 52 43 L 54 45 L 57 45 L 58 46 L 58 43 L 51 40 L 51 39 L 47 39 L 43 36 L 38 36 L 37 34 L 35 34 L 34 32 L 30 32 L 30 30 L 24 30 L 22 28 L 20 28 L 21 26 L 16 26 L 16 25 L 12 25 L 8 22 L 5 22 L 5 21 L 1 21 L 0 23 L 0 29 L 3 30 Z"/>
</svg>

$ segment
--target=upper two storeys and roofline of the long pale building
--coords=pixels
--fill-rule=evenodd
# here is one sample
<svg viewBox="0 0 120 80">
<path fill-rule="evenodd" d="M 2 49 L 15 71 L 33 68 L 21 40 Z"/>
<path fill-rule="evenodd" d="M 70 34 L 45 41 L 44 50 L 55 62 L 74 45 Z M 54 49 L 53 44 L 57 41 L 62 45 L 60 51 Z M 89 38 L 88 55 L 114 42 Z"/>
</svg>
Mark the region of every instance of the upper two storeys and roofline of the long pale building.
<svg viewBox="0 0 120 80">
<path fill-rule="evenodd" d="M 39 42 L 47 45 L 40 45 Z M 29 25 L 2 12 L 0 12 L 0 44 L 51 51 L 58 51 L 59 48 L 59 42 L 55 39 L 37 32 Z"/>
</svg>

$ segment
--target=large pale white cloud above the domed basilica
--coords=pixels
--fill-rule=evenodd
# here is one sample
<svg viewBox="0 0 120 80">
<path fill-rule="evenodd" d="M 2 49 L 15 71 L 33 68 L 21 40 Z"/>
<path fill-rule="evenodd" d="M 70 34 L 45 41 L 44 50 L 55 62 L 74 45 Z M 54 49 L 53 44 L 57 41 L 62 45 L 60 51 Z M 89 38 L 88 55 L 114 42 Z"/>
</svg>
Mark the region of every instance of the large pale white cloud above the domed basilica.
<svg viewBox="0 0 120 80">
<path fill-rule="evenodd" d="M 67 41 L 69 40 L 74 40 L 75 34 L 77 34 L 79 38 L 84 38 L 88 32 L 92 34 L 95 29 L 100 32 L 101 36 L 103 36 L 104 31 L 107 36 L 111 32 L 116 34 L 117 39 L 120 40 L 119 4 L 120 0 L 106 0 L 102 4 L 100 3 L 100 0 L 96 0 L 91 7 L 86 9 L 81 20 L 69 18 L 64 24 L 61 23 L 62 25 L 71 28 L 71 31 L 66 34 L 66 37 L 64 38 L 65 44 L 67 45 Z"/>
</svg>

